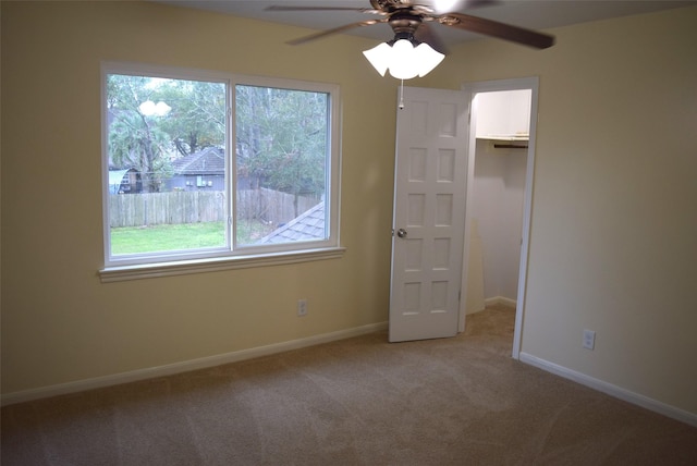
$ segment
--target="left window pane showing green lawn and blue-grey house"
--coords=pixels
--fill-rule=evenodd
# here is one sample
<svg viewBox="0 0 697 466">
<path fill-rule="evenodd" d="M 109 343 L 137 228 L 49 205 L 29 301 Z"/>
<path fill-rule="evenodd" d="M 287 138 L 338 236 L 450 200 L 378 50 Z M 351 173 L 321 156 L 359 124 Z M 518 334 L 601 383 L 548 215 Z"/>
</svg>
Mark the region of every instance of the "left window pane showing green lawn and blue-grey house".
<svg viewBox="0 0 697 466">
<path fill-rule="evenodd" d="M 107 75 L 111 256 L 225 247 L 225 84 Z"/>
</svg>

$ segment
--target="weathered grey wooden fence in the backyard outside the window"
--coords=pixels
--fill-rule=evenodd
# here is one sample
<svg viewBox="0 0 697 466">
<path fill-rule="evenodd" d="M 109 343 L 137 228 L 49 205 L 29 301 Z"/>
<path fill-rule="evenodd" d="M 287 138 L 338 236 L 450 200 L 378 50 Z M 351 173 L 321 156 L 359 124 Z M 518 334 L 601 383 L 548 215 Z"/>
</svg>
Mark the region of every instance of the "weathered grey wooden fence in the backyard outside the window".
<svg viewBox="0 0 697 466">
<path fill-rule="evenodd" d="M 301 196 L 295 213 L 292 194 L 272 189 L 237 192 L 237 217 L 282 224 L 310 209 L 319 198 Z M 225 193 L 193 191 L 109 195 L 111 228 L 217 222 L 227 218 Z"/>
</svg>

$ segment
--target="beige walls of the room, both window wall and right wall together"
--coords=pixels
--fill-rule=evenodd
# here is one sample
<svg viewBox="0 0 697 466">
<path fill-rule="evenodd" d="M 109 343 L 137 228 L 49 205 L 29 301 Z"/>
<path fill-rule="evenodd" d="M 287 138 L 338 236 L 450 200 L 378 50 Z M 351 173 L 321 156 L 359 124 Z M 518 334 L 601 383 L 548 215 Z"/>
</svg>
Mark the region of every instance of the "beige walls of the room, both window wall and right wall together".
<svg viewBox="0 0 697 466">
<path fill-rule="evenodd" d="M 409 84 L 540 76 L 522 350 L 697 414 L 694 24 L 692 8 L 561 28 L 546 51 L 477 41 Z M 396 83 L 357 52 L 371 41 L 280 45 L 302 34 L 131 2 L 2 3 L 3 393 L 387 320 Z M 101 284 L 100 60 L 339 83 L 345 257 Z"/>
</svg>

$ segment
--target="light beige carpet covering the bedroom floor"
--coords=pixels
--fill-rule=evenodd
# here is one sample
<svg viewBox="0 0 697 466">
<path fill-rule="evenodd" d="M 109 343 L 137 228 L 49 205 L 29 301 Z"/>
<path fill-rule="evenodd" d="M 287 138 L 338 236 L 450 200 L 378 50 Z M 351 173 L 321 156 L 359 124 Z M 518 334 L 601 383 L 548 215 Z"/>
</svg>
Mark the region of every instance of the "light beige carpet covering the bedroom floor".
<svg viewBox="0 0 697 466">
<path fill-rule="evenodd" d="M 696 465 L 697 429 L 511 359 L 514 312 L 7 406 L 12 465 Z"/>
</svg>

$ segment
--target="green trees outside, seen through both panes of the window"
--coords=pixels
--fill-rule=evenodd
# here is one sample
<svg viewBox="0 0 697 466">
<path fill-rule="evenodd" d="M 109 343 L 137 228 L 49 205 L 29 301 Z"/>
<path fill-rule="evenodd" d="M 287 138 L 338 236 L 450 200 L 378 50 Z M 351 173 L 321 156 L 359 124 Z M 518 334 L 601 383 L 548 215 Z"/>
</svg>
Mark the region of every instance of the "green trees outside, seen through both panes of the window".
<svg viewBox="0 0 697 466">
<path fill-rule="evenodd" d="M 138 170 L 144 191 L 178 157 L 224 146 L 224 83 L 112 74 L 107 85 L 110 164 Z M 235 99 L 237 176 L 293 194 L 298 214 L 299 195 L 325 193 L 328 95 L 239 85 Z"/>
</svg>

